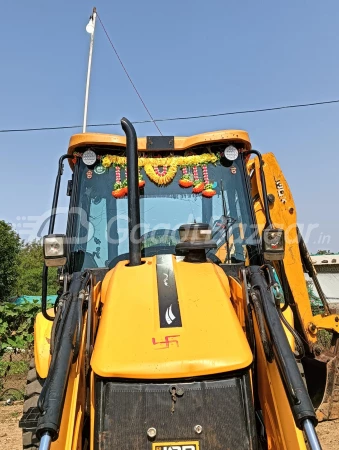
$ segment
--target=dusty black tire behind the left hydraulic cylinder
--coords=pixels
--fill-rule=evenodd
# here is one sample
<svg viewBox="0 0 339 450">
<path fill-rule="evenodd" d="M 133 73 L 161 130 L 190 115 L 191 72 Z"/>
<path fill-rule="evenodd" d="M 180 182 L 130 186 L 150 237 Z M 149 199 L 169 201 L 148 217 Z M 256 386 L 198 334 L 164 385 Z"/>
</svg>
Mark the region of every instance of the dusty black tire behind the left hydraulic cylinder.
<svg viewBox="0 0 339 450">
<path fill-rule="evenodd" d="M 29 408 L 38 406 L 39 395 L 43 386 L 43 379 L 41 379 L 35 369 L 34 359 L 29 365 L 29 372 L 27 374 L 25 401 L 23 412 L 28 411 Z M 22 445 L 24 450 L 37 450 L 39 448 L 39 441 L 35 435 L 35 430 L 22 430 Z"/>
</svg>

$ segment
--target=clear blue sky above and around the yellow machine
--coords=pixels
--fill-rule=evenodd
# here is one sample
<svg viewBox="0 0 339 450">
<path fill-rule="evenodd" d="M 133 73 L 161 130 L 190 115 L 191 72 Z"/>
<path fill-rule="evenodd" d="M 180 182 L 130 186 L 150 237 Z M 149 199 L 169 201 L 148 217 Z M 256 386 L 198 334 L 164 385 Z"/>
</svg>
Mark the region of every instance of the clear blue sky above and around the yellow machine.
<svg viewBox="0 0 339 450">
<path fill-rule="evenodd" d="M 12 0 L 2 5 L 1 129 L 82 122 L 85 26 L 93 6 L 154 117 L 339 98 L 337 1 Z M 123 115 L 148 118 L 98 23 L 89 123 Z M 298 221 L 319 224 L 311 251 L 339 252 L 338 118 L 335 104 L 159 126 L 169 135 L 247 130 L 255 148 L 276 154 Z M 156 134 L 152 125 L 136 128 L 139 135 Z M 96 131 L 121 133 L 118 127 Z M 1 219 L 21 224 L 18 216 L 48 210 L 71 133 L 0 133 Z M 63 185 L 66 206 L 64 192 Z M 331 242 L 318 244 L 322 235 Z"/>
</svg>

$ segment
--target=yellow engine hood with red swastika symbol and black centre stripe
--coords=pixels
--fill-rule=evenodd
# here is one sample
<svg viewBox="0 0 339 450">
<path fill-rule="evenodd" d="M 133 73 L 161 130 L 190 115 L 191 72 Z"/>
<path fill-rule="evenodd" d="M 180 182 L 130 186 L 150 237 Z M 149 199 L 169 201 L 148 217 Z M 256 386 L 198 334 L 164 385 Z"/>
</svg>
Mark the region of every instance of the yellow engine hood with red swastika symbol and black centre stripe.
<svg viewBox="0 0 339 450">
<path fill-rule="evenodd" d="M 91 360 L 96 374 L 181 378 L 251 364 L 224 272 L 212 263 L 172 258 L 182 326 L 160 328 L 156 257 L 137 267 L 120 262 L 101 292 L 102 317 Z"/>
</svg>

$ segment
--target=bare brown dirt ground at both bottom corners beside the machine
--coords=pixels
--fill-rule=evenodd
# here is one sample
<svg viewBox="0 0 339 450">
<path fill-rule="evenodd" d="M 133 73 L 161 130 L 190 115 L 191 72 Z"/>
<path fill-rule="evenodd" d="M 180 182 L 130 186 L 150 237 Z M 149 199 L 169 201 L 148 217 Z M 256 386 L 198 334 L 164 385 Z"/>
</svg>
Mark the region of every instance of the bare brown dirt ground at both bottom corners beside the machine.
<svg viewBox="0 0 339 450">
<path fill-rule="evenodd" d="M 21 430 L 18 421 L 22 413 L 22 403 L 0 406 L 0 449 L 22 450 Z M 339 420 L 323 422 L 317 426 L 323 450 L 339 449 Z"/>
</svg>

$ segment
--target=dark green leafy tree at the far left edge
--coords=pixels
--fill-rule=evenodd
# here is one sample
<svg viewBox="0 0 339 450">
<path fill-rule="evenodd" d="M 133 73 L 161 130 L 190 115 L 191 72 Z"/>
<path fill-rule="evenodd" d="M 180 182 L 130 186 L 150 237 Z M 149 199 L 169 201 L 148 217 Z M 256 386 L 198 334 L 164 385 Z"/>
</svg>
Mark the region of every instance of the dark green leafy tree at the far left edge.
<svg viewBox="0 0 339 450">
<path fill-rule="evenodd" d="M 0 220 L 0 301 L 7 300 L 15 287 L 20 243 L 12 225 Z"/>
</svg>

